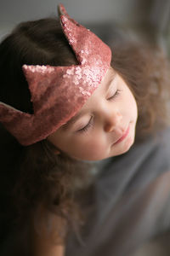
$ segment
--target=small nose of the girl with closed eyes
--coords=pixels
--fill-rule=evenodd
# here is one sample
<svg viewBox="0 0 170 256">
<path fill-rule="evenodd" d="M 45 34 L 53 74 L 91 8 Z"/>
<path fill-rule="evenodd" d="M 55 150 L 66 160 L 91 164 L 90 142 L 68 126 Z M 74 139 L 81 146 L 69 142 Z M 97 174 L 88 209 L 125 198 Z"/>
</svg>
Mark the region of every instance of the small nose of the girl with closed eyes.
<svg viewBox="0 0 170 256">
<path fill-rule="evenodd" d="M 105 131 L 111 132 L 121 129 L 122 114 L 118 110 L 111 111 L 105 115 Z"/>
</svg>

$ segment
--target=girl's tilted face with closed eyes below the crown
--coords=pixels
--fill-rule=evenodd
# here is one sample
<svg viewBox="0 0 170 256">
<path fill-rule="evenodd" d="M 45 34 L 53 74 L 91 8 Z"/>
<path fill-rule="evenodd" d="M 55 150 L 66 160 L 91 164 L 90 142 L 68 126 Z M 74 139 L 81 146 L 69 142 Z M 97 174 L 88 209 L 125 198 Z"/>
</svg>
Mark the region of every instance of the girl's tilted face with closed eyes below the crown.
<svg viewBox="0 0 170 256">
<path fill-rule="evenodd" d="M 133 145 L 137 116 L 131 90 L 110 68 L 77 115 L 48 140 L 72 158 L 102 160 Z"/>
</svg>

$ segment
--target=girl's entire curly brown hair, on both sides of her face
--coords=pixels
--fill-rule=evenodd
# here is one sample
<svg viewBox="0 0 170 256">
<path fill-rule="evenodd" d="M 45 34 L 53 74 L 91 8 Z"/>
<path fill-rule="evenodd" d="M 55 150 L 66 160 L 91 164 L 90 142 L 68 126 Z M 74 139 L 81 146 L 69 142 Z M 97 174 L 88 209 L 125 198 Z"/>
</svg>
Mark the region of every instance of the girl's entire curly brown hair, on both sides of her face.
<svg viewBox="0 0 170 256">
<path fill-rule="evenodd" d="M 141 141 L 167 124 L 168 63 L 160 49 L 144 45 L 119 45 L 113 47 L 113 53 L 112 67 L 125 79 L 137 100 L 136 141 Z M 77 64 L 59 20 L 21 23 L 0 44 L 0 101 L 33 113 L 23 64 Z M 80 205 L 82 195 L 93 183 L 90 166 L 64 153 L 54 154 L 55 148 L 47 140 L 23 147 L 3 125 L 0 139 L 1 237 L 5 239 L 13 230 L 18 255 L 29 252 L 32 225 L 37 233 L 45 229 L 47 236 L 62 243 L 70 228 L 77 232 L 83 223 Z M 55 224 L 50 223 L 53 216 Z M 19 243 L 20 252 L 16 246 Z"/>
</svg>

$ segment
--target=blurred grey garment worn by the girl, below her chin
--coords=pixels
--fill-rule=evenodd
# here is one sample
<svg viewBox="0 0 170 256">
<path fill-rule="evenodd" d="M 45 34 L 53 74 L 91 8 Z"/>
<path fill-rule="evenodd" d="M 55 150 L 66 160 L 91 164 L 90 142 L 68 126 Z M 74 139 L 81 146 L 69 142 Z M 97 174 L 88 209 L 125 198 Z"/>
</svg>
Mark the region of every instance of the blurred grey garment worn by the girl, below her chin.
<svg viewBox="0 0 170 256">
<path fill-rule="evenodd" d="M 92 211 L 66 256 L 127 256 L 170 227 L 170 129 L 96 164 Z"/>
</svg>

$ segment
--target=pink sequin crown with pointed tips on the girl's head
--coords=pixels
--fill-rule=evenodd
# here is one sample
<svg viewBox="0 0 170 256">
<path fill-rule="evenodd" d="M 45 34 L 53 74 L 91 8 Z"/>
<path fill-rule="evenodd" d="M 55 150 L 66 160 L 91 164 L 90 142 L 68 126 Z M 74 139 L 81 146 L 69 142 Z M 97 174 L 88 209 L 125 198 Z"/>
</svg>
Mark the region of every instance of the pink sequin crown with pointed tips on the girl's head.
<svg viewBox="0 0 170 256">
<path fill-rule="evenodd" d="M 34 113 L 0 102 L 0 121 L 22 145 L 45 139 L 71 119 L 92 95 L 111 65 L 111 49 L 67 15 L 59 5 L 60 22 L 79 65 L 28 66 L 23 72 L 31 91 Z"/>
</svg>

